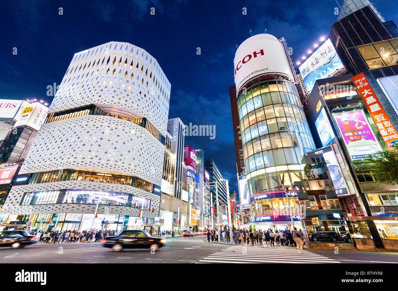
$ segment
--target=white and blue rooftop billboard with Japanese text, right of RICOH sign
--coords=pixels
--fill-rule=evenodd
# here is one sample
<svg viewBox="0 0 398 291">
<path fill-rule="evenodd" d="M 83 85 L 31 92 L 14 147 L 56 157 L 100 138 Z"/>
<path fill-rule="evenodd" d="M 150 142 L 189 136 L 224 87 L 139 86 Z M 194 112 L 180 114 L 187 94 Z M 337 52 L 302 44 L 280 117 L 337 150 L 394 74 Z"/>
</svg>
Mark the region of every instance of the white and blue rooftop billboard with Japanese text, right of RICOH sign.
<svg viewBox="0 0 398 291">
<path fill-rule="evenodd" d="M 343 67 L 336 49 L 328 39 L 298 69 L 307 92 L 311 92 L 315 80 L 328 78 Z"/>
</svg>

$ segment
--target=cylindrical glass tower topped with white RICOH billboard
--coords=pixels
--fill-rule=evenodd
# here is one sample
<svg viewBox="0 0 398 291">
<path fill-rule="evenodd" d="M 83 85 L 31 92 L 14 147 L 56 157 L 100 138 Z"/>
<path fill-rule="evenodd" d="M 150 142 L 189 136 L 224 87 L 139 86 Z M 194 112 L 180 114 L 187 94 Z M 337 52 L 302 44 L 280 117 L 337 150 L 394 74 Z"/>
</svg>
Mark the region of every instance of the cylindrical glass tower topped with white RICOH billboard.
<svg viewBox="0 0 398 291">
<path fill-rule="evenodd" d="M 300 181 L 302 156 L 315 145 L 285 49 L 273 35 L 254 35 L 238 47 L 234 65 L 250 221 L 288 225 L 296 199 L 279 186 Z"/>
</svg>

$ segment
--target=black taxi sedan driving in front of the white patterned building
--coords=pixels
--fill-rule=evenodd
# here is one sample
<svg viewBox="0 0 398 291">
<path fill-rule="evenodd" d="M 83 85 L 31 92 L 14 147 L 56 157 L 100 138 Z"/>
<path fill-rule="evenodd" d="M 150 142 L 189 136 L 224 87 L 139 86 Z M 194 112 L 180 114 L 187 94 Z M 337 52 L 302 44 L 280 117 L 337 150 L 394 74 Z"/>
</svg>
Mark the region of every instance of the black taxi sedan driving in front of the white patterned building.
<svg viewBox="0 0 398 291">
<path fill-rule="evenodd" d="M 151 236 L 145 230 L 122 230 L 115 236 L 105 236 L 102 239 L 105 248 L 120 252 L 123 248 L 150 248 L 157 251 L 166 244 L 166 239 Z"/>
</svg>

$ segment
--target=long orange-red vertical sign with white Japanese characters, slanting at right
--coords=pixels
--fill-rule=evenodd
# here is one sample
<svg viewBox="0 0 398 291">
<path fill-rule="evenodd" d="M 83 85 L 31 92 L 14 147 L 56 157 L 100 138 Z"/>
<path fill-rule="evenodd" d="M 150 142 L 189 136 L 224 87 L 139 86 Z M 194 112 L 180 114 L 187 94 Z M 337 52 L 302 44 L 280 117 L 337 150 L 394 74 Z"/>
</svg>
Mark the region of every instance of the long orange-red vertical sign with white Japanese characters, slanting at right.
<svg viewBox="0 0 398 291">
<path fill-rule="evenodd" d="M 371 85 L 369 85 L 363 73 L 360 73 L 351 79 L 354 82 L 355 87 L 357 87 L 357 90 L 361 95 L 369 114 L 372 116 L 372 119 L 375 122 L 384 142 L 386 143 L 387 147 L 391 148 L 391 146 L 388 146 L 388 143 L 398 140 L 398 133 L 396 132 L 394 126 L 392 126 L 391 120 L 388 118 L 388 115 L 381 105 L 380 100 L 378 100 L 378 97 L 373 91 Z"/>
</svg>

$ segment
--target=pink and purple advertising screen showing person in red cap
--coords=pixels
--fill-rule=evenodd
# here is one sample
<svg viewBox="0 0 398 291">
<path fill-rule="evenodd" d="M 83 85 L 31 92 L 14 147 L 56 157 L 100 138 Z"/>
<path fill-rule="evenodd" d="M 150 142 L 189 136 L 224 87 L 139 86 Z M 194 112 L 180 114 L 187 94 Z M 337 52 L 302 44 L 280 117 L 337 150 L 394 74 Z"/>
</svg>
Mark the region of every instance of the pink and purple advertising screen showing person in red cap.
<svg viewBox="0 0 398 291">
<path fill-rule="evenodd" d="M 364 159 L 381 150 L 363 110 L 332 114 L 352 160 Z"/>
</svg>

